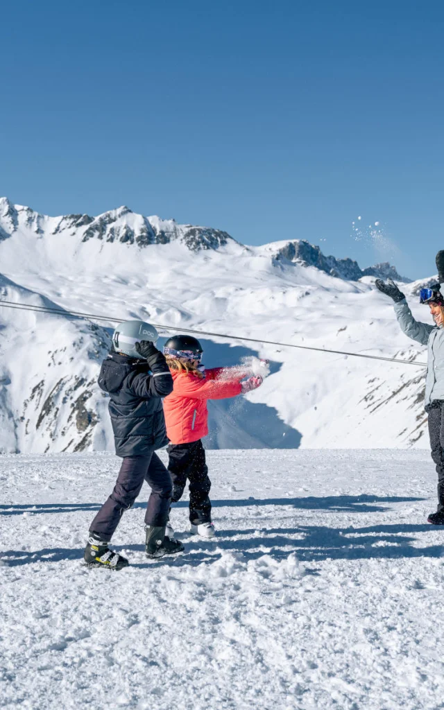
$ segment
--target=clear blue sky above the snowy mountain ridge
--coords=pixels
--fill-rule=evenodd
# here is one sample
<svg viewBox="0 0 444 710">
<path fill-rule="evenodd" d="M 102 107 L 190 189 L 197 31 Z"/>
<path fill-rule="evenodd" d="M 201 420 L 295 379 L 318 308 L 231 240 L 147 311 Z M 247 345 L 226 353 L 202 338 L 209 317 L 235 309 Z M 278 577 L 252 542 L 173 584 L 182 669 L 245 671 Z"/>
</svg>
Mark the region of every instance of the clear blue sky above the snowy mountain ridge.
<svg viewBox="0 0 444 710">
<path fill-rule="evenodd" d="M 47 214 L 127 204 L 430 275 L 443 36 L 428 0 L 4 3 L 0 195 Z M 384 225 L 380 253 L 350 236 L 358 215 Z"/>
</svg>

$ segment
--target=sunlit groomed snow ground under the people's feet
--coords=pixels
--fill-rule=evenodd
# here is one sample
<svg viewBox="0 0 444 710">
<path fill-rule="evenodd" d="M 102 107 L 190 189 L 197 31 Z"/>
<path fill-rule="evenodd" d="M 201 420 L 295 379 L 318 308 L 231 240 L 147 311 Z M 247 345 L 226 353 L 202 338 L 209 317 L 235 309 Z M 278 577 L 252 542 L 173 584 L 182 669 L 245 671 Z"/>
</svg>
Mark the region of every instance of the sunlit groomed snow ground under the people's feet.
<svg viewBox="0 0 444 710">
<path fill-rule="evenodd" d="M 0 706 L 443 708 L 444 530 L 428 453 L 210 451 L 217 537 L 144 556 L 148 488 L 82 567 L 109 454 L 0 457 Z M 162 454 L 163 455 L 163 454 Z"/>
</svg>

